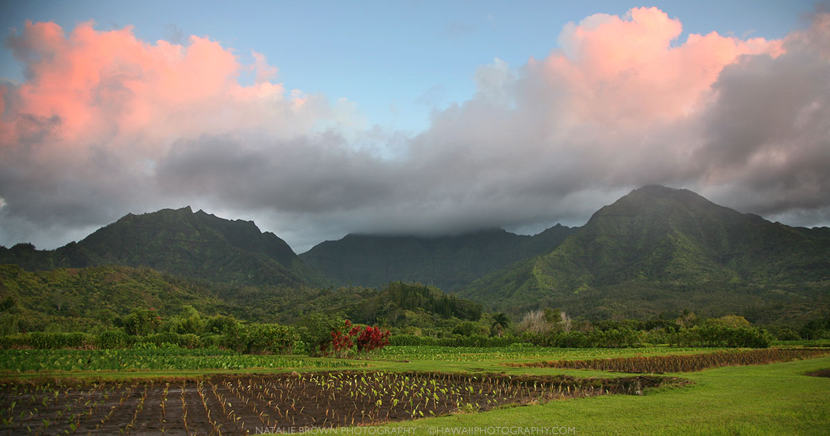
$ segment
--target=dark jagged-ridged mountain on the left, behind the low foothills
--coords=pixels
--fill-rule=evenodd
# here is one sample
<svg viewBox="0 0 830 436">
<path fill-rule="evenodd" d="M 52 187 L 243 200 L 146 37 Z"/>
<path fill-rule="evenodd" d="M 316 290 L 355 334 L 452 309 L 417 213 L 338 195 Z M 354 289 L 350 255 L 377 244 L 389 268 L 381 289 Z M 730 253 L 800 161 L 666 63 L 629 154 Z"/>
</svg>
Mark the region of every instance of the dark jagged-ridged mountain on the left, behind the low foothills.
<svg viewBox="0 0 830 436">
<path fill-rule="evenodd" d="M 217 218 L 187 208 L 128 214 L 64 247 L 38 251 L 31 244 L 0 247 L 0 263 L 29 271 L 59 267 L 149 267 L 212 282 L 323 286 L 328 282 L 300 261 L 273 233 L 250 221 Z"/>
</svg>

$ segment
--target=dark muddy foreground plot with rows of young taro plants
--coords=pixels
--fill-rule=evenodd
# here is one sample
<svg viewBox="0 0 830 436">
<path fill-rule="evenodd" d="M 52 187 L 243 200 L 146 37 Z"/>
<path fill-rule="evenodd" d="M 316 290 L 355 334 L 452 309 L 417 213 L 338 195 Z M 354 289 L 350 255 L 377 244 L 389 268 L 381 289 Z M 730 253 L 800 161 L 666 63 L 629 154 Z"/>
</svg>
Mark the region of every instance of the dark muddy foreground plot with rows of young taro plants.
<svg viewBox="0 0 830 436">
<path fill-rule="evenodd" d="M 684 385 L 674 377 L 318 372 L 0 385 L 0 434 L 261 434 Z"/>
</svg>

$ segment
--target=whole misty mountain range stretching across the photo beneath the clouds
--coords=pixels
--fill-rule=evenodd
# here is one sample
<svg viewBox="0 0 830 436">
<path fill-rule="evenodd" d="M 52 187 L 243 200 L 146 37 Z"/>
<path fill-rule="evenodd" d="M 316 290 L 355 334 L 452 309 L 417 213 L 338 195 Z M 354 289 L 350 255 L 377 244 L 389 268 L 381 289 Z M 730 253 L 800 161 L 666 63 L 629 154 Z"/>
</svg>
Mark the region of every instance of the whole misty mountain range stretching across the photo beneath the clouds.
<svg viewBox="0 0 830 436">
<path fill-rule="evenodd" d="M 349 292 L 357 298 L 365 291 L 354 290 L 390 282 L 456 291 L 485 310 L 512 316 L 544 307 L 588 319 L 691 309 L 764 322 L 830 308 L 830 229 L 770 223 L 662 186 L 632 191 L 581 228 L 557 225 L 532 237 L 501 229 L 434 238 L 350 234 L 297 256 L 252 222 L 181 208 L 128 214 L 56 250 L 0 247 L 0 263 L 28 272 L 152 268 L 219 289 L 210 292 L 218 299 L 210 306 L 232 301 L 237 313 L 246 306 L 299 313 L 312 307 L 306 302 L 311 291 L 329 301 L 315 307 L 355 313 L 365 307 L 360 313 L 372 319 L 383 311 L 366 301 L 344 301 L 343 289 L 331 285 L 354 285 Z M 164 290 L 153 298 L 164 299 Z"/>
</svg>

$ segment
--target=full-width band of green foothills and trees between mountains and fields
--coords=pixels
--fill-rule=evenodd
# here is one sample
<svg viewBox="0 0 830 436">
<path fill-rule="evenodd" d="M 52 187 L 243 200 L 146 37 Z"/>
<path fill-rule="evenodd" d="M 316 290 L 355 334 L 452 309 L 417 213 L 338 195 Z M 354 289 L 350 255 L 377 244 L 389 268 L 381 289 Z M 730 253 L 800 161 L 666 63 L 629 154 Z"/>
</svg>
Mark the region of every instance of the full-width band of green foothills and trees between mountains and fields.
<svg viewBox="0 0 830 436">
<path fill-rule="evenodd" d="M 0 279 L 3 296 L 0 333 L 85 331 L 95 334 L 96 338 L 110 335 L 108 340 L 121 346 L 142 341 L 168 342 L 186 347 L 220 345 L 242 352 L 280 353 L 291 350 L 297 339 L 279 339 L 295 335 L 279 329 L 291 325 L 308 330 L 313 328 L 308 320 L 315 316 L 328 320 L 323 324 L 349 319 L 364 325 L 383 326 L 392 330 L 393 345 L 763 347 L 774 339 L 830 337 L 828 317 L 774 328 L 773 335 L 752 327 L 740 316 L 706 319 L 688 311 L 652 321 L 591 322 L 584 318 L 572 320 L 564 312 L 548 308 L 526 313 L 521 321 L 511 322 L 504 314 L 482 313 L 480 305 L 437 288 L 401 282 L 379 290 L 350 287 L 292 291 L 198 285 L 149 268 L 92 267 L 25 272 L 15 266 L 0 267 Z M 113 328 L 142 339 L 112 336 Z M 270 345 L 256 339 L 262 336 L 254 333 L 258 328 L 271 331 L 274 339 Z M 328 339 L 331 331 L 328 325 L 326 329 L 324 339 Z M 282 333 L 276 335 L 276 331 Z M 233 335 L 232 339 L 228 335 Z M 85 340 L 100 347 L 99 342 L 99 339 Z M 312 340 L 305 338 L 302 342 L 307 347 Z M 29 342 L 19 345 L 41 347 Z"/>
</svg>

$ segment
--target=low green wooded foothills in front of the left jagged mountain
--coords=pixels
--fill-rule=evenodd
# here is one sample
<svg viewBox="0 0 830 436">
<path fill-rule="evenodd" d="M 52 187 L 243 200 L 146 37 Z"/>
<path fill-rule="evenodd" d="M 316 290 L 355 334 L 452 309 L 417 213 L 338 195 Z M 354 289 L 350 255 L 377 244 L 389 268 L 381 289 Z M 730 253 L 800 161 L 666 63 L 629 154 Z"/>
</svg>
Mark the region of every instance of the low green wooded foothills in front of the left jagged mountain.
<svg viewBox="0 0 830 436">
<path fill-rule="evenodd" d="M 355 322 L 435 326 L 442 320 L 477 320 L 481 305 L 434 287 L 390 283 L 381 289 L 236 286 L 173 277 L 150 268 L 117 266 L 27 272 L 0 265 L 0 326 L 19 331 L 90 330 L 111 326 L 134 308 L 159 316 L 192 306 L 203 315 L 295 323 L 311 311 L 341 313 Z"/>
</svg>

